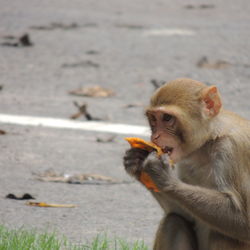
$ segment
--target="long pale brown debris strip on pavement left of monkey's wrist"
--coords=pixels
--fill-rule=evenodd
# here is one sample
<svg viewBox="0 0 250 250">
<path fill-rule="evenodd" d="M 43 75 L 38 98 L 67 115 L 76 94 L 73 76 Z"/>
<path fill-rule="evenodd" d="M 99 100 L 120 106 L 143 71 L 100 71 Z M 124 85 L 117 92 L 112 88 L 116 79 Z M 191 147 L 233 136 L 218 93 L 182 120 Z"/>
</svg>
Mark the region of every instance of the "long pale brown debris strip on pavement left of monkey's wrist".
<svg viewBox="0 0 250 250">
<path fill-rule="evenodd" d="M 69 184 L 92 184 L 92 185 L 105 185 L 105 184 L 123 184 L 131 183 L 120 181 L 112 177 L 99 175 L 99 174 L 57 174 L 53 170 L 47 170 L 43 174 L 35 174 L 36 179 L 46 182 L 62 182 Z"/>
</svg>

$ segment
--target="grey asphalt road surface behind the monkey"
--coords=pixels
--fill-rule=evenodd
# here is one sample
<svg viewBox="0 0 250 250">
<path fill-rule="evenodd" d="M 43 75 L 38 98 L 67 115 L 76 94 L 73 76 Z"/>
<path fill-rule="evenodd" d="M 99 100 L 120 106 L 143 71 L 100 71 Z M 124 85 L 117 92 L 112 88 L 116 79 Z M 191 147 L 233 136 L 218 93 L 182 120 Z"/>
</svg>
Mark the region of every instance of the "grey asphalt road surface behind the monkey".
<svg viewBox="0 0 250 250">
<path fill-rule="evenodd" d="M 225 108 L 250 118 L 250 3 L 0 0 L 0 6 L 0 129 L 6 132 L 0 135 L 0 223 L 57 230 L 73 242 L 107 232 L 151 245 L 162 211 L 123 169 L 126 132 L 10 124 L 1 117 L 68 121 L 77 101 L 87 103 L 89 114 L 101 122 L 146 126 L 152 80 L 190 77 L 217 85 Z M 20 40 L 24 34 L 28 41 Z M 116 94 L 69 94 L 91 85 Z M 125 183 L 37 180 L 36 174 L 48 169 Z M 6 199 L 8 193 L 78 206 L 30 207 Z"/>
</svg>

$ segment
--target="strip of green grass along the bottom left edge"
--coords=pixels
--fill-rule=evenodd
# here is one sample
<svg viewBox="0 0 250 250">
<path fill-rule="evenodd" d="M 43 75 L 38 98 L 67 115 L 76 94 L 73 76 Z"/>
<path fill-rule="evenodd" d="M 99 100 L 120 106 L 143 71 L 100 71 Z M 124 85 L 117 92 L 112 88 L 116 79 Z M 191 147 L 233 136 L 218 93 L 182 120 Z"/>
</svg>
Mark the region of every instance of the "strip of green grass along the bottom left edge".
<svg viewBox="0 0 250 250">
<path fill-rule="evenodd" d="M 0 225 L 0 250 L 148 250 L 143 241 L 128 243 L 107 235 L 97 235 L 91 242 L 81 245 L 70 243 L 55 233 L 33 230 L 7 229 Z"/>
</svg>

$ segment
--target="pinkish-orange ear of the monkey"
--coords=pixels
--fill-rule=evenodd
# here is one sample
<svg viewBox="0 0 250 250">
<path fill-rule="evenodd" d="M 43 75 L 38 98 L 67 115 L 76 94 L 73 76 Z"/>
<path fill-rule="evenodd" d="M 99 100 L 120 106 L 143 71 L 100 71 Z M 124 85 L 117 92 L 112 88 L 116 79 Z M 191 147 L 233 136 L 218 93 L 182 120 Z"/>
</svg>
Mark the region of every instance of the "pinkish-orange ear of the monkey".
<svg viewBox="0 0 250 250">
<path fill-rule="evenodd" d="M 207 87 L 202 92 L 202 101 L 205 103 L 206 113 L 215 116 L 222 106 L 219 92 L 215 86 Z"/>
</svg>

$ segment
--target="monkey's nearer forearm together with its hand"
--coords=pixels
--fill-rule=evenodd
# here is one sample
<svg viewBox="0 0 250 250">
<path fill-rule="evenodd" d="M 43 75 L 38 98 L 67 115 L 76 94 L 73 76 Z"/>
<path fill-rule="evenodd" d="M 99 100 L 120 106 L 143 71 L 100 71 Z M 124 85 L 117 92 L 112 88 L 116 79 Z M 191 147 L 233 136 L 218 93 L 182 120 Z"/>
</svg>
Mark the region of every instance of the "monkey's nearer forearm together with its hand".
<svg viewBox="0 0 250 250">
<path fill-rule="evenodd" d="M 186 184 L 171 176 L 169 167 L 160 161 L 145 162 L 145 169 L 162 193 L 177 201 L 194 217 L 211 228 L 243 241 L 250 241 L 250 223 L 246 207 L 230 191 L 218 191 Z"/>
</svg>

